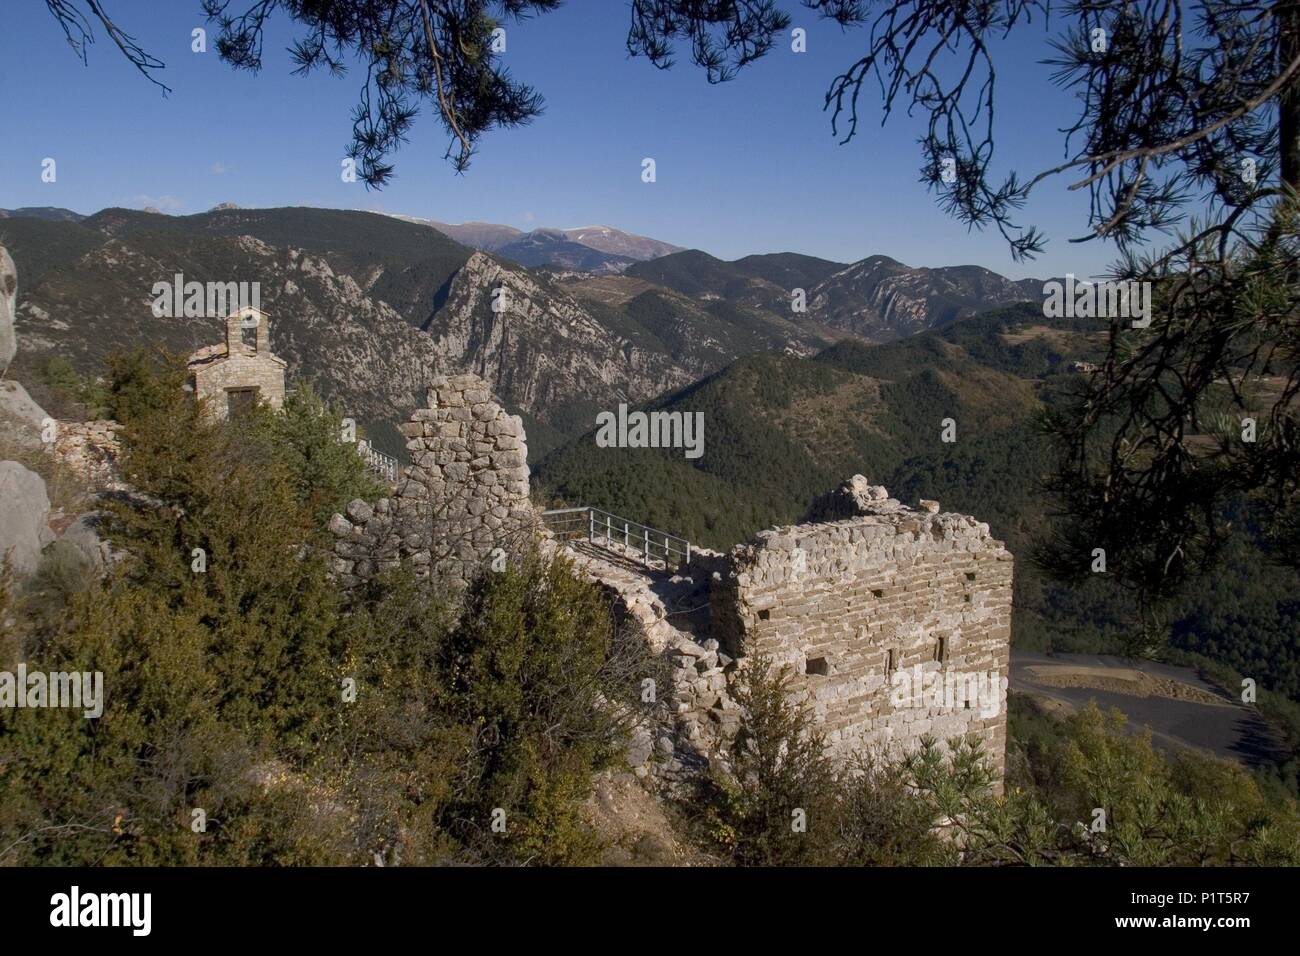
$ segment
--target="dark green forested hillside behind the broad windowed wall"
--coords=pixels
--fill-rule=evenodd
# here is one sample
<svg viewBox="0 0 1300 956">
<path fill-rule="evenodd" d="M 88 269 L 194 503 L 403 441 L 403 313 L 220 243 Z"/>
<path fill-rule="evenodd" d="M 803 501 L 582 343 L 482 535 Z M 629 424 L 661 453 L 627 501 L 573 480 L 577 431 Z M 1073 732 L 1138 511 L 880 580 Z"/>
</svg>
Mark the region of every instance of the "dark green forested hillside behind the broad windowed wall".
<svg viewBox="0 0 1300 956">
<path fill-rule="evenodd" d="M 841 342 L 812 359 L 742 359 L 654 408 L 702 411 L 705 454 L 598 449 L 594 434 L 545 458 L 551 501 L 595 505 L 715 549 L 798 520 L 809 499 L 861 472 L 905 502 L 985 520 L 1017 555 L 1014 640 L 1027 649 L 1117 650 L 1132 607 L 1100 575 L 1082 587 L 1035 563 L 1049 528 L 1052 450 L 1041 410 L 1076 390 L 1102 345 L 1089 320 L 1017 306 L 881 346 Z M 952 419 L 956 441 L 941 440 Z M 1169 611 L 1175 646 L 1300 697 L 1300 580 L 1253 544 L 1243 503 L 1230 559 Z"/>
</svg>

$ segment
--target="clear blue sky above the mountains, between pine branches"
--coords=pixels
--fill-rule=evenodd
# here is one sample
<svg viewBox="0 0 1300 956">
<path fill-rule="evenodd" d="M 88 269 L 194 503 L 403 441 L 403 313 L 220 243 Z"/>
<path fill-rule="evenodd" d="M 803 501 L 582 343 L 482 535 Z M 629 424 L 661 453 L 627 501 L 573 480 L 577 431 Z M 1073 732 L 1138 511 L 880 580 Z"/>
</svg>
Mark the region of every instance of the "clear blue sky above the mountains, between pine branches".
<svg viewBox="0 0 1300 956">
<path fill-rule="evenodd" d="M 237 0 L 240 7 L 243 0 Z M 607 224 L 724 259 L 796 251 L 841 261 L 884 254 L 913 265 L 975 263 L 1013 277 L 1096 274 L 1112 247 L 1069 243 L 1084 232 L 1086 195 L 1057 177 L 1037 187 L 1022 221 L 1041 226 L 1048 251 L 1015 264 L 996 234 L 968 233 L 918 182 L 922 117 L 896 113 L 880 127 L 879 99 L 863 94 L 859 135 L 840 146 L 822 112 L 835 75 L 863 51 L 862 30 L 841 31 L 793 1 L 807 52 L 789 43 L 723 85 L 710 85 L 686 51 L 662 72 L 625 48 L 623 0 L 569 0 L 507 27 L 506 62 L 546 98 L 532 125 L 494 131 L 469 170 L 443 159 L 436 117 L 416 120 L 382 191 L 339 178 L 361 73 L 342 79 L 290 74 L 291 26 L 268 33 L 259 75 L 214 52 L 194 53 L 199 0 L 107 0 L 118 23 L 161 59 L 165 99 L 99 33 L 83 66 L 36 0 L 6 0 L 0 90 L 9 107 L 0 151 L 0 207 L 155 206 L 194 213 L 243 207 L 376 209 L 448 222 L 521 229 Z M 1050 31 L 1058 33 L 1054 21 Z M 997 161 L 1036 173 L 1063 156 L 1075 114 L 1049 82 L 1041 20 L 998 51 Z M 40 181 L 44 157 L 57 182 Z M 641 181 L 653 156 L 658 181 Z"/>
</svg>

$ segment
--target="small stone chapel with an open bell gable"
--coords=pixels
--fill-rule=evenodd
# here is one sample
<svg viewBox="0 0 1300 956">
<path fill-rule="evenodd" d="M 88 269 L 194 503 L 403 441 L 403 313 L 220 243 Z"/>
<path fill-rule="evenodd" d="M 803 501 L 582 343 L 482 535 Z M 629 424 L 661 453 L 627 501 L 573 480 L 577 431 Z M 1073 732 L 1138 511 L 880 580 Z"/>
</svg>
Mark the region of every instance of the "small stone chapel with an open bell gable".
<svg viewBox="0 0 1300 956">
<path fill-rule="evenodd" d="M 252 307 L 228 315 L 226 341 L 199 349 L 186 363 L 194 397 L 208 399 L 221 419 L 257 402 L 283 405 L 286 365 L 270 352 L 270 317 Z"/>
</svg>

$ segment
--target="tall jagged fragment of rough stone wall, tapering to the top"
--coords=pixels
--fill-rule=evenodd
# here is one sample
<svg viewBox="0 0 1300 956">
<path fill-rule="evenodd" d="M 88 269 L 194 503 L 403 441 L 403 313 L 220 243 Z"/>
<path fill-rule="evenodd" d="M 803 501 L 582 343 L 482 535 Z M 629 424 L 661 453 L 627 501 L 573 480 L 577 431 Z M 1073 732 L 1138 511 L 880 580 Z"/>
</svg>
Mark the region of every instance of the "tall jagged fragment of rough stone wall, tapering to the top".
<svg viewBox="0 0 1300 956">
<path fill-rule="evenodd" d="M 354 501 L 330 519 L 334 572 L 355 587 L 410 561 L 416 574 L 463 587 L 474 567 L 516 550 L 537 519 L 528 499 L 524 423 L 474 375 L 439 376 L 426 407 L 400 425 L 411 464 L 373 507 Z"/>
</svg>

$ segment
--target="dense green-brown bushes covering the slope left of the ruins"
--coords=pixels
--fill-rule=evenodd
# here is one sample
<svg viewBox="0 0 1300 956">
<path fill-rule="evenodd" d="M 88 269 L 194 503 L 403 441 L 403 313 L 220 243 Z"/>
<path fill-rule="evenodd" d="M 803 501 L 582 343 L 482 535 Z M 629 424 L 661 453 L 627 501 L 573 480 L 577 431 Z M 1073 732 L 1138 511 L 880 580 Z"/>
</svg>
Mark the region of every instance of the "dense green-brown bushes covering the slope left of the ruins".
<svg viewBox="0 0 1300 956">
<path fill-rule="evenodd" d="M 105 692 L 99 719 L 0 711 L 0 864 L 595 861 L 580 806 L 647 672 L 599 591 L 524 554 L 463 604 L 410 568 L 344 604 L 316 546 L 356 488 L 335 414 L 212 421 L 174 367 L 126 368 L 126 558 L 98 584 L 52 554 L 16 604 L 0 581 L 5 663 Z"/>
</svg>

